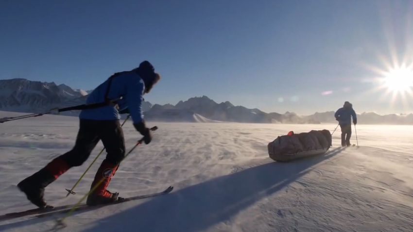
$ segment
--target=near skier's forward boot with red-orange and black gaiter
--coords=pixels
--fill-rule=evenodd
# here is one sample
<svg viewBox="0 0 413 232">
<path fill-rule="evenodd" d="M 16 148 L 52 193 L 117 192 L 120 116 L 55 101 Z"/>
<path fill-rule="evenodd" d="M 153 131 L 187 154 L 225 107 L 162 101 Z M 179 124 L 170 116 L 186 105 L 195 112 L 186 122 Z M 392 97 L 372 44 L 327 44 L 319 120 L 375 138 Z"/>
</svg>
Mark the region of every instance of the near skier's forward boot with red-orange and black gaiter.
<svg viewBox="0 0 413 232">
<path fill-rule="evenodd" d="M 119 193 L 111 193 L 106 190 L 117 169 L 118 165 L 114 165 L 107 160 L 103 160 L 102 165 L 99 167 L 98 172 L 95 175 L 95 180 L 93 180 L 92 186 L 90 187 L 91 190 L 93 188 L 95 188 L 95 190 L 87 196 L 87 205 L 107 204 L 118 200 Z M 99 185 L 95 186 L 97 184 Z"/>
</svg>

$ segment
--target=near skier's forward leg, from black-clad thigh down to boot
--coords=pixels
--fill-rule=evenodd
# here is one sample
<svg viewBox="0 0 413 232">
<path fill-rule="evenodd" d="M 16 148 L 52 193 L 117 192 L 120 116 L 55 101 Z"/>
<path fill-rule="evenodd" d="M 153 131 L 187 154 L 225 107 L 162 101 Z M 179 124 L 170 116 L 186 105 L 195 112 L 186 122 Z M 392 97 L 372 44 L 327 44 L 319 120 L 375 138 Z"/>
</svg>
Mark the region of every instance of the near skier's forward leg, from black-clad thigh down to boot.
<svg viewBox="0 0 413 232">
<path fill-rule="evenodd" d="M 120 161 L 125 155 L 125 140 L 119 120 L 103 121 L 100 137 L 106 149 L 106 159 L 96 172 L 95 179 L 90 187 L 93 190 L 86 200 L 88 205 L 97 205 L 112 202 L 118 199 L 118 193 L 111 193 L 106 188 L 115 175 Z"/>
</svg>

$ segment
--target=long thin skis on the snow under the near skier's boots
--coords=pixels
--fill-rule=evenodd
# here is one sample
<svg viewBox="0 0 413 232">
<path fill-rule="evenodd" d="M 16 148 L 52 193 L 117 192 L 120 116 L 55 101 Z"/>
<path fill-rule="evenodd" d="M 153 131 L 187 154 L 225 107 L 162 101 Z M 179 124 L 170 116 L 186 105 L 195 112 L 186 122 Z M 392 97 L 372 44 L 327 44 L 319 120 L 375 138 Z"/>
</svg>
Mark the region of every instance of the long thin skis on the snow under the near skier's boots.
<svg viewBox="0 0 413 232">
<path fill-rule="evenodd" d="M 161 192 L 146 194 L 146 195 L 138 195 L 135 197 L 130 197 L 130 198 L 125 198 L 122 200 L 114 201 L 108 204 L 95 205 L 95 206 L 88 206 L 86 204 L 82 204 L 76 208 L 76 211 L 86 210 L 86 209 L 97 209 L 97 208 L 104 207 L 107 205 L 119 204 L 119 203 L 123 203 L 123 202 L 130 201 L 130 200 L 152 198 L 152 197 L 168 194 L 172 191 L 172 189 L 173 189 L 173 186 L 169 186 L 167 189 Z M 48 215 L 53 215 L 53 214 L 66 213 L 66 212 L 69 212 L 74 206 L 75 205 L 73 204 L 69 204 L 69 205 L 57 206 L 54 208 L 44 208 L 44 209 L 37 208 L 37 209 L 31 209 L 31 210 L 26 210 L 22 212 L 8 213 L 5 215 L 1 215 L 0 221 L 9 220 L 9 219 L 22 217 L 26 215 L 36 215 L 37 217 L 42 217 L 42 216 L 48 216 Z"/>
</svg>

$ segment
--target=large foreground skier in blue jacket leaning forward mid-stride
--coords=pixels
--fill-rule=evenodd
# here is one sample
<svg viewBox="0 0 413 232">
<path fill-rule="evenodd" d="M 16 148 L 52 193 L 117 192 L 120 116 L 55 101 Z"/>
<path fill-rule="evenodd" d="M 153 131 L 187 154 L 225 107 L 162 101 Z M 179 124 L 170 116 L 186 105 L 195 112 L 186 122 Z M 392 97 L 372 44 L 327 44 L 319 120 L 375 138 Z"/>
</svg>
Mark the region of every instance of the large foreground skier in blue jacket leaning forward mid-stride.
<svg viewBox="0 0 413 232">
<path fill-rule="evenodd" d="M 155 73 L 155 68 L 148 61 L 144 61 L 131 71 L 115 73 L 93 90 L 87 97 L 87 104 L 99 102 L 108 104 L 100 108 L 82 110 L 79 116 L 80 128 L 73 149 L 17 184 L 18 188 L 26 194 L 27 199 L 40 208 L 46 207 L 43 198 L 45 187 L 69 168 L 81 166 L 99 140 L 102 140 L 107 155 L 95 175 L 92 187 L 103 177 L 105 179 L 87 197 L 86 204 L 97 205 L 117 200 L 119 193 L 111 193 L 106 188 L 125 155 L 119 111 L 127 110 L 131 114 L 133 125 L 144 136 L 145 144 L 149 144 L 152 135 L 143 120 L 142 96 L 149 93 L 159 80 L 160 76 Z M 122 99 L 118 100 L 116 105 L 109 104 L 111 100 L 120 97 Z"/>
</svg>

